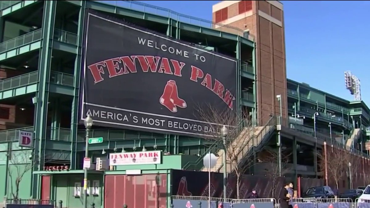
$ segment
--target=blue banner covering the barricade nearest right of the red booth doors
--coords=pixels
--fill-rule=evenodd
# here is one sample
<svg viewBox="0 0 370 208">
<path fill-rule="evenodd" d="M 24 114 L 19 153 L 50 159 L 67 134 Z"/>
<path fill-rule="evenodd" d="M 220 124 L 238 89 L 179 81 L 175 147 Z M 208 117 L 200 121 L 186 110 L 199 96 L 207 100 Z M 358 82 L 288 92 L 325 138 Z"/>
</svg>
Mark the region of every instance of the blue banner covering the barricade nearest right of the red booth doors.
<svg viewBox="0 0 370 208">
<path fill-rule="evenodd" d="M 185 199 L 173 199 L 172 204 L 174 208 L 198 208 L 198 203 L 201 202 L 202 208 L 208 208 L 208 201 L 205 200 L 185 200 Z M 216 202 L 211 201 L 211 208 L 231 208 L 229 202 Z"/>
</svg>

